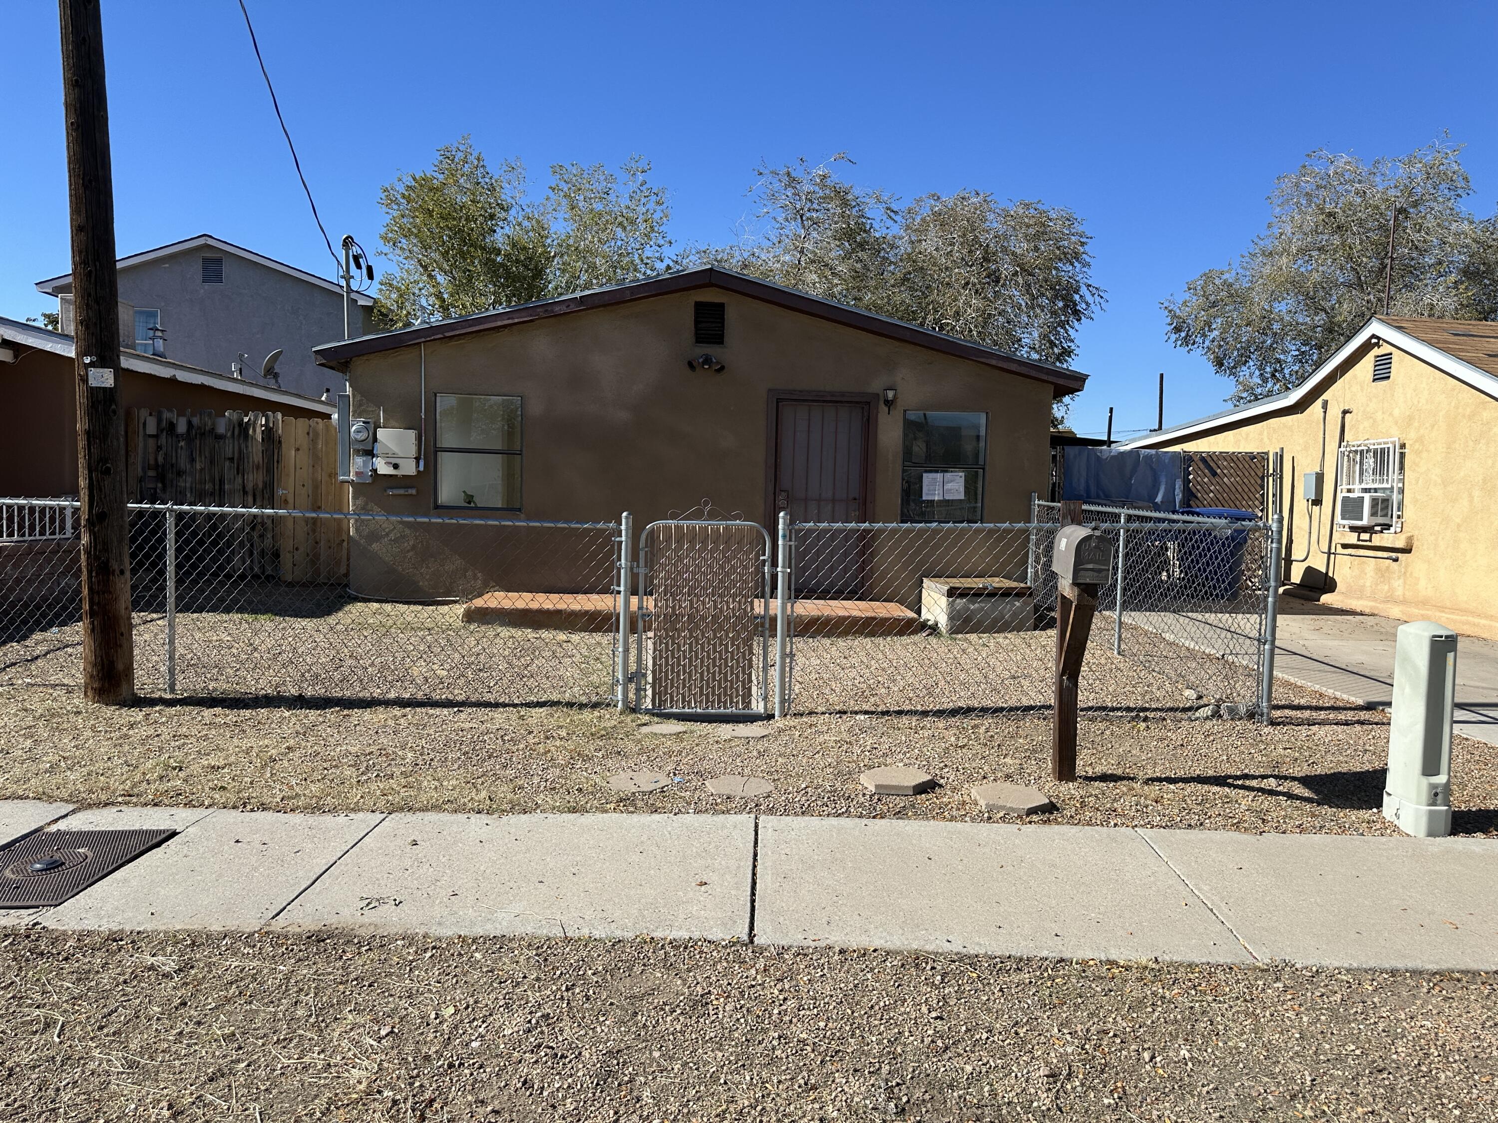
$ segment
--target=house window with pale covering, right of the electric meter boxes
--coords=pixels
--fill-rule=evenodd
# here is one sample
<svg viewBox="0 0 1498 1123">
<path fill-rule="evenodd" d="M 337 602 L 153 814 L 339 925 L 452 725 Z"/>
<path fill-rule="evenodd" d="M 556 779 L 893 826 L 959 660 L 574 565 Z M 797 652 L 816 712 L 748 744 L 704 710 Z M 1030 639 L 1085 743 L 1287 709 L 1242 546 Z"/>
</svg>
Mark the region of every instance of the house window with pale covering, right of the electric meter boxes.
<svg viewBox="0 0 1498 1123">
<path fill-rule="evenodd" d="M 521 400 L 437 394 L 436 506 L 520 511 Z"/>
</svg>

